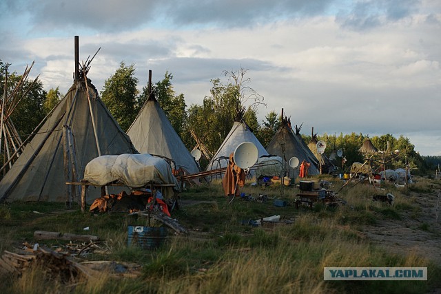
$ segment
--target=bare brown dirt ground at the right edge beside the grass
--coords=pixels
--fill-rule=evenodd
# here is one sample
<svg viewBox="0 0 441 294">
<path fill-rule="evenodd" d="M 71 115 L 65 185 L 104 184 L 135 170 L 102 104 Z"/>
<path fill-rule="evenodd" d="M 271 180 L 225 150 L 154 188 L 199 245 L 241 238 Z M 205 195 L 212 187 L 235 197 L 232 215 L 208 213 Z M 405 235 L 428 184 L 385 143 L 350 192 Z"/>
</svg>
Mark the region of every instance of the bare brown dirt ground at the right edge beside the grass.
<svg viewBox="0 0 441 294">
<path fill-rule="evenodd" d="M 364 228 L 367 238 L 383 246 L 393 253 L 413 251 L 441 266 L 441 207 L 440 189 L 431 193 L 414 193 L 416 204 L 420 211 L 404 211 L 400 213 L 401 220 L 387 220 L 376 224 L 375 227 Z"/>
</svg>

